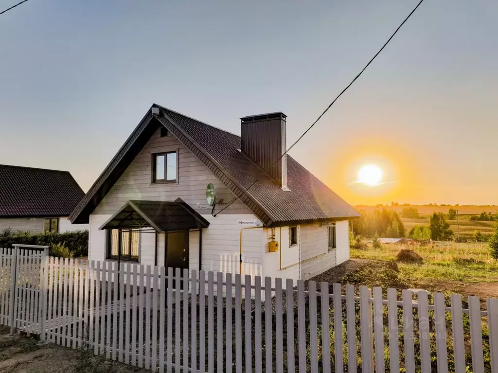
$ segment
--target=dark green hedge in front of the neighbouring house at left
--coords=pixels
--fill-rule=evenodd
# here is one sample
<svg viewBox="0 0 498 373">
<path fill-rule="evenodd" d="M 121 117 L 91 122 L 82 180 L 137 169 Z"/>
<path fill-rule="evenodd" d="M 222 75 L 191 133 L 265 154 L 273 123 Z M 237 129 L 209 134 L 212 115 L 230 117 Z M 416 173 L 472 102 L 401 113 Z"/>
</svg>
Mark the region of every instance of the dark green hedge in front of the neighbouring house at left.
<svg viewBox="0 0 498 373">
<path fill-rule="evenodd" d="M 74 256 L 88 256 L 88 231 L 66 233 L 0 232 L 0 248 L 11 248 L 12 244 L 44 245 L 62 244 L 74 251 Z"/>
</svg>

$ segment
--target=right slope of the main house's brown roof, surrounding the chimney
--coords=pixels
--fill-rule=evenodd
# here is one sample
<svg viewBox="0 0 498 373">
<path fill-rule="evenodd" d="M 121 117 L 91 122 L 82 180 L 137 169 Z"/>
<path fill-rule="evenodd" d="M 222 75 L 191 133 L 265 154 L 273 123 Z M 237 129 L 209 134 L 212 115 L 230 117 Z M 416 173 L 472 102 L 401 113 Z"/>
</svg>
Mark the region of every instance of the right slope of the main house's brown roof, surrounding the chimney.
<svg viewBox="0 0 498 373">
<path fill-rule="evenodd" d="M 241 148 L 240 136 L 166 108 L 162 110 L 244 188 L 249 187 L 260 176 L 258 168 L 238 150 Z M 283 191 L 268 177 L 263 176 L 247 193 L 264 206 L 273 217 L 274 223 L 360 216 L 351 205 L 289 155 L 287 186 L 290 191 Z"/>
</svg>

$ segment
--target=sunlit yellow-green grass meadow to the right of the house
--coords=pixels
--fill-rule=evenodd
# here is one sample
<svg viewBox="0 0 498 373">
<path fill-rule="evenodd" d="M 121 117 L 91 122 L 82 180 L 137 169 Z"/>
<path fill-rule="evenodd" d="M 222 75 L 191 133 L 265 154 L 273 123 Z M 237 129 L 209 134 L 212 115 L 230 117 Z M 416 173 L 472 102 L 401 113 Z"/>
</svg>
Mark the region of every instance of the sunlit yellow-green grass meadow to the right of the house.
<svg viewBox="0 0 498 373">
<path fill-rule="evenodd" d="M 466 283 L 497 282 L 498 262 L 489 253 L 487 244 L 437 243 L 416 246 L 422 263 L 404 263 L 396 260 L 401 245 L 382 245 L 380 249 L 351 249 L 353 258 L 395 261 L 400 275 L 412 283 L 430 283 L 433 280 L 462 281 Z"/>
</svg>

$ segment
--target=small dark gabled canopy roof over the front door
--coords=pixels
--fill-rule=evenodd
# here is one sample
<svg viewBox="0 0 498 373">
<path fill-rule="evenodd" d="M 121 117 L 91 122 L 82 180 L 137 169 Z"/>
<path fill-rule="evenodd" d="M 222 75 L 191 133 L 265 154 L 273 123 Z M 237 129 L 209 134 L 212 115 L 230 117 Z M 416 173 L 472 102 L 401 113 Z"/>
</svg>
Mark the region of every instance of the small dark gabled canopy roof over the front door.
<svg viewBox="0 0 498 373">
<path fill-rule="evenodd" d="M 208 228 L 209 222 L 177 198 L 168 201 L 128 201 L 100 229 L 151 227 L 156 232 Z"/>
</svg>

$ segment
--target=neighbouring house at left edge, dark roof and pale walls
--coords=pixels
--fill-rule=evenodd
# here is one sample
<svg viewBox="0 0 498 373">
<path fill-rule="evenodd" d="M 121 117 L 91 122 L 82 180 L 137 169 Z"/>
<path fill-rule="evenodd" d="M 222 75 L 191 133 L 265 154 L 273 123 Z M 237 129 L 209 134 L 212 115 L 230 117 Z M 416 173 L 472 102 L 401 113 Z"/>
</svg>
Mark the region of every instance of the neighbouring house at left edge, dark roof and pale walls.
<svg viewBox="0 0 498 373">
<path fill-rule="evenodd" d="M 84 195 L 67 171 L 0 164 L 0 231 L 87 230 L 68 219 Z"/>
</svg>

